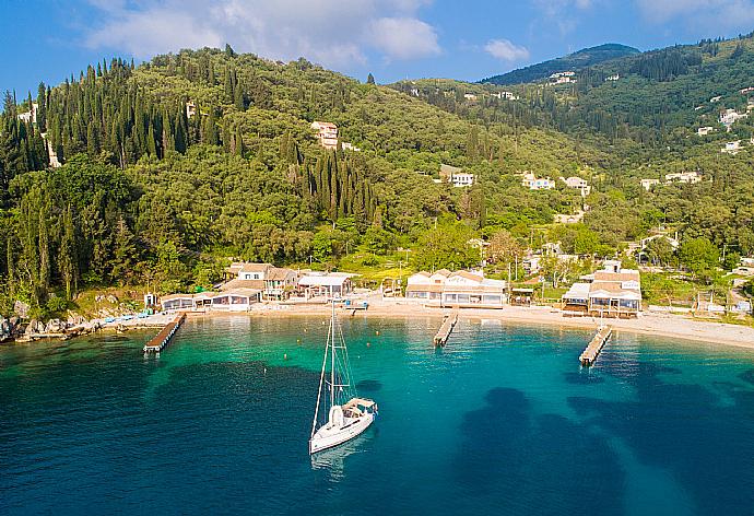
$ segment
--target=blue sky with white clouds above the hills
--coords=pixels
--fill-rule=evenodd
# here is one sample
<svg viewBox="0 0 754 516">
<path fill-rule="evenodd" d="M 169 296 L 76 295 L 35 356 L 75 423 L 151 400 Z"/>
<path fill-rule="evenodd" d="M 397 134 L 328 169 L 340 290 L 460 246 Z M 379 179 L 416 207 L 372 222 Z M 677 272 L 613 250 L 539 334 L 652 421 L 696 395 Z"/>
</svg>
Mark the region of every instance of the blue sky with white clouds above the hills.
<svg viewBox="0 0 754 516">
<path fill-rule="evenodd" d="M 2 0 L 0 90 L 204 46 L 305 57 L 362 81 L 476 81 L 603 43 L 641 50 L 754 30 L 754 0 Z"/>
</svg>

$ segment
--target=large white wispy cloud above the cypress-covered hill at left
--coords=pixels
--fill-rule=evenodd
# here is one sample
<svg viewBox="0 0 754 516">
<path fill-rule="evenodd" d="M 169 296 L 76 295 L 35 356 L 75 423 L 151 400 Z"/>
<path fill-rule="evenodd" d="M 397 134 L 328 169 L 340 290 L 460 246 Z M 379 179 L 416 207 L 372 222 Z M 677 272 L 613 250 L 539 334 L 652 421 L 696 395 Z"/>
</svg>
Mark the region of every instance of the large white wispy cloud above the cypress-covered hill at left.
<svg viewBox="0 0 754 516">
<path fill-rule="evenodd" d="M 331 67 L 363 63 L 370 51 L 390 60 L 440 52 L 435 27 L 419 16 L 432 0 L 89 1 L 101 20 L 85 43 L 140 58 L 225 43 L 273 59 L 304 56 Z"/>
</svg>

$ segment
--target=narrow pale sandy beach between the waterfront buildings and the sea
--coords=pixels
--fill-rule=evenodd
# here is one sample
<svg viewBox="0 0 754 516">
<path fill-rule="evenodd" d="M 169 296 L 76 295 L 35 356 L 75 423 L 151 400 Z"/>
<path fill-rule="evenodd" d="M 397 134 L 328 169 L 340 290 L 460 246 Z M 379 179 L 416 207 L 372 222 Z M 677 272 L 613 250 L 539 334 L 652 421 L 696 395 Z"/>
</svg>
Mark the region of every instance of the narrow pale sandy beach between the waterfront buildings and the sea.
<svg viewBox="0 0 754 516">
<path fill-rule="evenodd" d="M 413 303 L 401 302 L 369 302 L 367 310 L 360 310 L 355 317 L 369 318 L 411 318 L 436 317 L 450 314 L 451 308 L 427 307 Z M 272 308 L 275 306 L 275 308 Z M 244 313 L 187 313 L 189 318 L 225 317 L 245 315 L 250 317 L 306 317 L 329 316 L 327 305 L 267 305 Z M 345 318 L 343 310 L 339 315 Z M 349 316 L 350 318 L 350 316 Z M 563 317 L 561 310 L 545 306 L 505 306 L 502 309 L 462 308 L 459 318 L 464 320 L 493 319 L 509 324 L 528 324 L 533 326 L 559 327 L 564 329 L 596 330 L 599 320 L 592 317 Z M 603 319 L 617 331 L 636 335 L 660 337 L 664 339 L 687 342 L 718 344 L 727 348 L 738 348 L 754 351 L 754 328 L 749 326 L 730 325 L 691 319 L 670 314 L 644 314 L 637 319 Z"/>
</svg>

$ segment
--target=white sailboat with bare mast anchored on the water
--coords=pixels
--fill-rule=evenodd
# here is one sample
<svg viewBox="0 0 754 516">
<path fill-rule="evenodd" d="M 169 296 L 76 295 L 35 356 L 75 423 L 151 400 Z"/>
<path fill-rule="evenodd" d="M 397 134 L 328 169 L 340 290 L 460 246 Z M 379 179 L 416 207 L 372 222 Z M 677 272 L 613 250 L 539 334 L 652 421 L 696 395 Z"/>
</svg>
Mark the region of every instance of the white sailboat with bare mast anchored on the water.
<svg viewBox="0 0 754 516">
<path fill-rule="evenodd" d="M 327 421 L 320 421 L 320 409 L 321 415 L 327 414 Z M 319 376 L 317 407 L 311 423 L 309 454 L 332 448 L 361 435 L 372 425 L 376 415 L 377 403 L 370 399 L 358 398 L 356 395 L 351 379 L 349 351 L 345 348 L 345 339 L 338 324 L 333 303 L 325 345 L 322 373 Z"/>
</svg>

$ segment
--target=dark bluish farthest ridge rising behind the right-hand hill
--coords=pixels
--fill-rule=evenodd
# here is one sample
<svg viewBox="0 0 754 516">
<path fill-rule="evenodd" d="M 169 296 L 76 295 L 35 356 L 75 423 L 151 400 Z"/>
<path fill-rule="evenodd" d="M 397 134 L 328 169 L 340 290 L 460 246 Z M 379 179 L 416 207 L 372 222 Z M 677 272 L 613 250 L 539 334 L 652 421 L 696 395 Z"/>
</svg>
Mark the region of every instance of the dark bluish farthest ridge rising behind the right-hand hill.
<svg viewBox="0 0 754 516">
<path fill-rule="evenodd" d="M 520 68 L 502 75 L 494 75 L 488 79 L 484 79 L 481 82 L 499 85 L 535 82 L 546 79 L 555 72 L 579 71 L 604 61 L 610 61 L 612 59 L 618 59 L 626 56 L 634 56 L 636 54 L 640 54 L 640 50 L 616 43 L 609 43 L 598 47 L 585 48 L 584 50 L 579 50 L 568 56 L 551 59 L 550 61 Z"/>
</svg>

